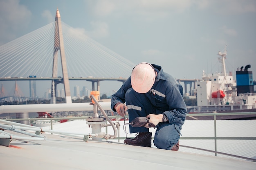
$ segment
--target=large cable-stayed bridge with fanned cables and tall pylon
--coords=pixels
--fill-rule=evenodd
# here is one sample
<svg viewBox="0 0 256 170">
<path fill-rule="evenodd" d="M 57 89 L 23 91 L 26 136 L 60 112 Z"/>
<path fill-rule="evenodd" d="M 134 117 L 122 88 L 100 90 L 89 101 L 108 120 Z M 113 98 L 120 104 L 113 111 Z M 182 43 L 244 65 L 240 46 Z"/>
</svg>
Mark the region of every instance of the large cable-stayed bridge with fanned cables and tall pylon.
<svg viewBox="0 0 256 170">
<path fill-rule="evenodd" d="M 22 98 L 15 88 L 13 99 L 34 99 L 35 81 L 48 80 L 52 81 L 51 103 L 56 103 L 60 83 L 64 84 L 66 102 L 71 103 L 70 80 L 92 82 L 92 91 L 100 91 L 100 81 L 124 82 L 135 65 L 62 22 L 58 9 L 54 22 L 0 46 L 0 81 L 29 81 L 30 97 Z M 192 83 L 195 89 L 198 79 L 178 81 L 184 82 L 185 93 L 189 84 L 190 95 L 195 95 Z M 0 99 L 8 97 L 1 91 Z"/>
</svg>

